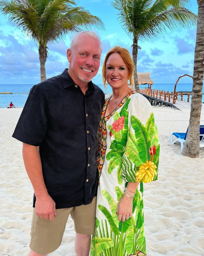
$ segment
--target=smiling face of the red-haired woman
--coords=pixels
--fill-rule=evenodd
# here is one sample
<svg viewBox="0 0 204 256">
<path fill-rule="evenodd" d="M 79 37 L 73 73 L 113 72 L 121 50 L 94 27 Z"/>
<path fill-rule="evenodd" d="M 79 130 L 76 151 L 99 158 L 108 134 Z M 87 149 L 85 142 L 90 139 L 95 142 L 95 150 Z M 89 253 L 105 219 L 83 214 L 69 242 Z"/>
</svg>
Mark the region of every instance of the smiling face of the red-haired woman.
<svg viewBox="0 0 204 256">
<path fill-rule="evenodd" d="M 111 54 L 106 62 L 106 80 L 114 89 L 122 88 L 128 82 L 128 67 L 118 53 Z"/>
</svg>

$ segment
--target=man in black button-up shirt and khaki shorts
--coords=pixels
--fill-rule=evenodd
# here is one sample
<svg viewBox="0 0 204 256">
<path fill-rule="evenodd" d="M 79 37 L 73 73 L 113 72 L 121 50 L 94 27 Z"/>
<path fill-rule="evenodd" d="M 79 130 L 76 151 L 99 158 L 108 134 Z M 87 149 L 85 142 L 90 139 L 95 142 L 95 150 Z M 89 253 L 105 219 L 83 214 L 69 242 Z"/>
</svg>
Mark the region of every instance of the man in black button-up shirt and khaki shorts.
<svg viewBox="0 0 204 256">
<path fill-rule="evenodd" d="M 102 45 L 89 31 L 74 35 L 69 69 L 30 91 L 13 137 L 34 189 L 29 256 L 47 255 L 61 244 L 69 214 L 77 256 L 88 256 L 95 229 L 97 132 L 105 100 L 92 83 Z"/>
</svg>

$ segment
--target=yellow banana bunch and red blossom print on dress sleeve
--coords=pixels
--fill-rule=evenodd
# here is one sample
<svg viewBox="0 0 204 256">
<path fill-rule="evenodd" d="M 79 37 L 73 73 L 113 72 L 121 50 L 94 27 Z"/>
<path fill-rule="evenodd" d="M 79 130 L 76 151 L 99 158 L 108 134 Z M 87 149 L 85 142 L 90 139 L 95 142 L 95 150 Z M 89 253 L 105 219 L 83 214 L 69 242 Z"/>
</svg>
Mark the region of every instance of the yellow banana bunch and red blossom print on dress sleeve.
<svg viewBox="0 0 204 256">
<path fill-rule="evenodd" d="M 153 162 L 153 156 L 156 153 L 156 147 L 155 145 L 151 148 L 150 147 L 150 155 L 151 160 L 150 161 L 146 161 L 146 163 L 143 163 L 140 168 L 139 171 L 136 172 L 135 176 L 136 176 L 136 182 L 140 182 L 141 180 L 143 180 L 144 183 L 153 181 L 154 177 L 156 176 L 156 165 Z"/>
</svg>

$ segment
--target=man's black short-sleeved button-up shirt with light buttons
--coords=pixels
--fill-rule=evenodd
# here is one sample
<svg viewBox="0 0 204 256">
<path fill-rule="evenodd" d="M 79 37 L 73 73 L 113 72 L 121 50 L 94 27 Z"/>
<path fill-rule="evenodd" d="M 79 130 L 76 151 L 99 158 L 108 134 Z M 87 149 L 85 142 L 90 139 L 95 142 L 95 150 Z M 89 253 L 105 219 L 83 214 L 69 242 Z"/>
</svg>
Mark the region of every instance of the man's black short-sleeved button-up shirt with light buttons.
<svg viewBox="0 0 204 256">
<path fill-rule="evenodd" d="M 67 69 L 34 85 L 12 135 L 39 146 L 45 185 L 56 209 L 89 204 L 96 195 L 97 137 L 105 95 L 92 82 L 88 85 L 84 95 Z"/>
</svg>

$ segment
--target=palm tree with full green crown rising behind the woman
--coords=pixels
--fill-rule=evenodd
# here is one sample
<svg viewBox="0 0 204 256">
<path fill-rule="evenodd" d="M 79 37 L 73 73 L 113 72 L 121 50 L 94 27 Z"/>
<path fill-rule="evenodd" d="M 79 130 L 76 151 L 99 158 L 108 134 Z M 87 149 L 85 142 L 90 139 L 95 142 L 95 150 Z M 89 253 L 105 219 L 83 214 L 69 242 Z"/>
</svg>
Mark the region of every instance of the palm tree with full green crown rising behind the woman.
<svg viewBox="0 0 204 256">
<path fill-rule="evenodd" d="M 137 78 L 138 40 L 189 28 L 196 24 L 197 16 L 186 6 L 189 0 L 114 0 L 112 6 L 120 13 L 119 21 L 126 33 L 133 38 L 133 62 L 135 90 L 139 91 Z"/>
</svg>

